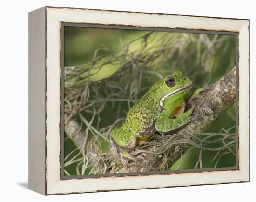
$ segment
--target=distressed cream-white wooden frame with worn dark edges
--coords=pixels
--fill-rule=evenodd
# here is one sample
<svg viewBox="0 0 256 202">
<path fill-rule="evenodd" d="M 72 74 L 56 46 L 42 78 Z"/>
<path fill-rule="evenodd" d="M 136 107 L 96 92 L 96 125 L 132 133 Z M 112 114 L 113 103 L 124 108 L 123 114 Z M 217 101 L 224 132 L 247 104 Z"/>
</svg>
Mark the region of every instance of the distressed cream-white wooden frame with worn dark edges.
<svg viewBox="0 0 256 202">
<path fill-rule="evenodd" d="M 237 33 L 238 169 L 62 179 L 61 22 Z M 29 189 L 55 195 L 234 182 L 249 182 L 249 20 L 62 7 L 29 13 Z"/>
</svg>

